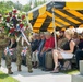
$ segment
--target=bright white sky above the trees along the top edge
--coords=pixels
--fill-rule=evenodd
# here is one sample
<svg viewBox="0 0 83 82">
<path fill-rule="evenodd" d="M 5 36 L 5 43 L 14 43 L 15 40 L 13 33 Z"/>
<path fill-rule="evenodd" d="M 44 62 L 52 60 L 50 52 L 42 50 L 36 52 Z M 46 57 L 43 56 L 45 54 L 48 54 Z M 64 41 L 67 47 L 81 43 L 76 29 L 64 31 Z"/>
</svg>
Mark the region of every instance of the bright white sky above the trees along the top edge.
<svg viewBox="0 0 83 82">
<path fill-rule="evenodd" d="M 21 4 L 26 4 L 28 3 L 31 0 L 0 0 L 0 1 L 13 1 L 13 2 L 20 2 Z M 35 0 L 32 0 L 32 2 L 34 2 Z M 38 0 L 38 1 L 42 1 L 42 0 Z M 49 1 L 49 0 L 46 0 L 46 1 Z M 57 0 L 57 1 L 83 1 L 83 0 Z"/>
</svg>

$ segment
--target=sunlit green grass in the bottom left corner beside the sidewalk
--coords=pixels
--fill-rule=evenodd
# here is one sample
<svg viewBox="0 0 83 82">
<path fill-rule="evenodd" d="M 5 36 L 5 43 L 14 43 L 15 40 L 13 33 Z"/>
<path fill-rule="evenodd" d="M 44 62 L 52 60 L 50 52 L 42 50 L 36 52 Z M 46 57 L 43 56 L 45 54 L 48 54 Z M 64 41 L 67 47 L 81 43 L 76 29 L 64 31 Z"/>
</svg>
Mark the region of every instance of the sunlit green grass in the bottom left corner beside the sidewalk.
<svg viewBox="0 0 83 82">
<path fill-rule="evenodd" d="M 19 81 L 0 71 L 0 82 L 19 82 Z"/>
</svg>

